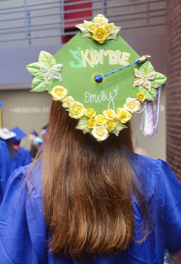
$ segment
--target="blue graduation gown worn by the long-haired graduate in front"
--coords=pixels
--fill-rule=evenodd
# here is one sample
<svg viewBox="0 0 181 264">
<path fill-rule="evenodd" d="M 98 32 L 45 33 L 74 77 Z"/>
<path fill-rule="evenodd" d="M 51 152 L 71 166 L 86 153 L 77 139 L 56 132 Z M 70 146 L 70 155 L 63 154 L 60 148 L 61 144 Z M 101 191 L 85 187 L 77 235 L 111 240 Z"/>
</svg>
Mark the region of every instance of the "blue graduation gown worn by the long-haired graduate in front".
<svg viewBox="0 0 181 264">
<path fill-rule="evenodd" d="M 28 168 L 29 165 L 15 170 L 7 182 L 0 206 L 0 263 L 76 264 L 72 259 L 54 258 L 52 253 L 48 253 L 40 166 L 34 175 L 25 178 Z M 135 242 L 140 239 L 142 217 L 139 202 L 134 200 L 135 231 L 129 249 L 117 255 L 96 257 L 94 261 L 85 261 L 83 264 L 163 264 L 165 247 L 171 252 L 180 249 L 181 185 L 168 164 L 162 160 L 155 161 L 142 156 L 141 169 L 145 171 L 142 180 L 147 193 L 144 196 L 151 214 L 154 214 L 148 238 L 141 243 Z M 141 175 L 138 167 L 136 170 Z M 22 188 L 24 178 L 26 184 Z"/>
</svg>

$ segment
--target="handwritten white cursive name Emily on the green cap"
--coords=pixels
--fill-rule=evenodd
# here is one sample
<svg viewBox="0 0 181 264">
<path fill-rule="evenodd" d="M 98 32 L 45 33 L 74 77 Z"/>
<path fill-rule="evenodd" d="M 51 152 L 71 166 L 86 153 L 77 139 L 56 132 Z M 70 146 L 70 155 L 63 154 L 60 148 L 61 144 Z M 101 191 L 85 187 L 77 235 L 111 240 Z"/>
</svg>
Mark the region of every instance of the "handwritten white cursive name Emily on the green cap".
<svg viewBox="0 0 181 264">
<path fill-rule="evenodd" d="M 113 109 L 115 110 L 115 103 L 114 103 L 114 98 L 116 97 L 118 92 L 118 86 L 116 89 L 113 89 L 113 93 L 109 92 L 109 95 L 107 96 L 104 91 L 101 91 L 100 94 L 90 94 L 89 92 L 85 92 L 84 96 L 84 101 L 86 103 L 101 103 L 102 101 L 108 101 L 107 109 Z"/>
</svg>

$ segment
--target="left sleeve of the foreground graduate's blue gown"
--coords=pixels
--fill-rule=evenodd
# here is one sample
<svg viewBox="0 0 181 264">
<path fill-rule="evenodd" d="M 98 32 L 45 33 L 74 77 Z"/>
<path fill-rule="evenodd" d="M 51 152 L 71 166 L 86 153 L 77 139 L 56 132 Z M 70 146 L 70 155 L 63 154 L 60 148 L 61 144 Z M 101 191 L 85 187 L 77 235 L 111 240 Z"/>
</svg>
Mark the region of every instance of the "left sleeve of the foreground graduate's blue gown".
<svg viewBox="0 0 181 264">
<path fill-rule="evenodd" d="M 22 186 L 24 177 L 18 169 L 12 173 L 0 206 L 0 263 L 39 264 L 28 230 L 29 194 L 27 184 Z"/>
</svg>

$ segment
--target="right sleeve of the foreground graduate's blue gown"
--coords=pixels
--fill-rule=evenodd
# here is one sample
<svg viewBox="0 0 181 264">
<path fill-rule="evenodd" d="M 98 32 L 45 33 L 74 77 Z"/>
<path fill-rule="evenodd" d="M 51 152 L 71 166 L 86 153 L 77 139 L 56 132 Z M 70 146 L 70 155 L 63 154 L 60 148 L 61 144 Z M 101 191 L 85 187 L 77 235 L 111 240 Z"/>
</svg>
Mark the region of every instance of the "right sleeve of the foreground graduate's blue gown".
<svg viewBox="0 0 181 264">
<path fill-rule="evenodd" d="M 181 185 L 170 169 L 162 162 L 164 183 L 164 229 L 165 244 L 170 252 L 181 248 Z"/>
</svg>

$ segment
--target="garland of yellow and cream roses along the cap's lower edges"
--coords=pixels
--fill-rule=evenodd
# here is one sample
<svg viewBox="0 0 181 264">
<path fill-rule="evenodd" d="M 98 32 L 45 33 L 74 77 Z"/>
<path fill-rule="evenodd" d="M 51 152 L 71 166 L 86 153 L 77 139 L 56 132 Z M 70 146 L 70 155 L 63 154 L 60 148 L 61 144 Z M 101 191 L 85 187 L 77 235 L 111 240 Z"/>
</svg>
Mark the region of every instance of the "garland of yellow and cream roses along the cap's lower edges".
<svg viewBox="0 0 181 264">
<path fill-rule="evenodd" d="M 55 86 L 49 94 L 52 95 L 53 100 L 62 103 L 62 107 L 69 111 L 71 118 L 82 119 L 86 117 L 86 132 L 91 132 L 97 141 L 103 141 L 108 138 L 109 132 L 114 133 L 118 123 L 125 124 L 129 121 L 132 117 L 131 113 L 138 112 L 140 110 L 140 101 L 145 99 L 143 93 L 138 93 L 137 99 L 127 98 L 124 107 L 117 108 L 116 112 L 108 109 L 103 111 L 103 114 L 96 115 L 93 108 L 86 109 L 82 103 L 76 102 L 71 96 L 67 96 L 67 89 L 61 85 Z"/>
</svg>

